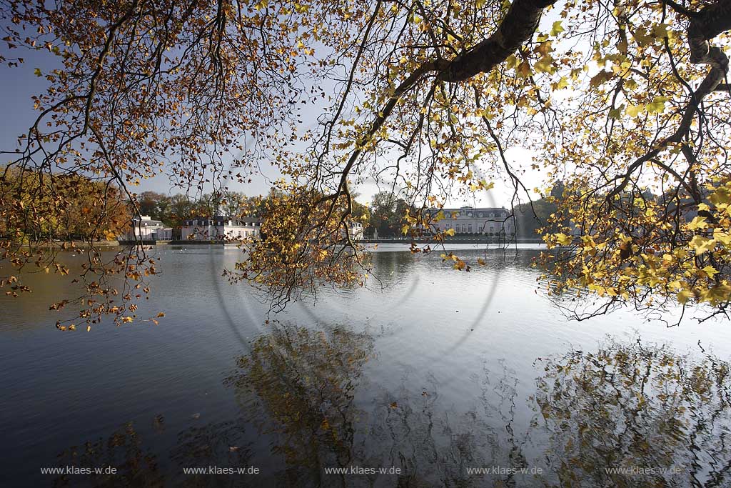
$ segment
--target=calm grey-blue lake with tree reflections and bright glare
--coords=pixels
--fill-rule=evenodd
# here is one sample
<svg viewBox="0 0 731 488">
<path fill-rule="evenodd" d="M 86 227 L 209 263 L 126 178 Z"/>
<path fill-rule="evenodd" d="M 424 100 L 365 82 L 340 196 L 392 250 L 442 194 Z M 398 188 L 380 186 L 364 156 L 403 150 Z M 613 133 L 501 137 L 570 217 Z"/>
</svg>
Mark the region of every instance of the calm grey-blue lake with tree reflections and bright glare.
<svg viewBox="0 0 731 488">
<path fill-rule="evenodd" d="M 0 486 L 731 486 L 728 320 L 567 320 L 537 250 L 452 247 L 486 266 L 382 245 L 379 281 L 269 317 L 221 277 L 238 249 L 157 247 L 159 325 L 91 332 L 29 277 L 0 298 Z"/>
</svg>

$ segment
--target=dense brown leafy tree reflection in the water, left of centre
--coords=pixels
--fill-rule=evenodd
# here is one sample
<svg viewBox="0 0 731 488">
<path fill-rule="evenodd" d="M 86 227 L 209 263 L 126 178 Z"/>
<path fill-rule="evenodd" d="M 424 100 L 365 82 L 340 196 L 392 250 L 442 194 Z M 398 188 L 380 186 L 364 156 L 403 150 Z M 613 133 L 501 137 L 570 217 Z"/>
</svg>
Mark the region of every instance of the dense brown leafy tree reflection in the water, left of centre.
<svg viewBox="0 0 731 488">
<path fill-rule="evenodd" d="M 262 433 L 279 438 L 273 452 L 284 456 L 289 481 L 322 484 L 324 467 L 351 462 L 353 395 L 371 350 L 368 334 L 275 325 L 239 359 L 227 383 L 247 413 L 273 421 Z"/>
</svg>

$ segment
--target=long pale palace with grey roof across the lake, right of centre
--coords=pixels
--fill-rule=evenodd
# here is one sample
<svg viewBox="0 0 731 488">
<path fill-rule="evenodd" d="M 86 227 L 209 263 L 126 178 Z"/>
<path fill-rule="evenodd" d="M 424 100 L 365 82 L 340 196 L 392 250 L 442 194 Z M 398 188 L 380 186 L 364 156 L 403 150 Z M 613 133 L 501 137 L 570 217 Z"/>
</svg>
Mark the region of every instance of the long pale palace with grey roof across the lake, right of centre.
<svg viewBox="0 0 731 488">
<path fill-rule="evenodd" d="M 454 229 L 455 234 L 512 234 L 515 232 L 510 211 L 505 207 L 478 208 L 465 206 L 460 209 L 442 209 L 444 219 L 433 222 L 434 227 L 444 232 Z M 436 216 L 438 209 L 431 211 Z"/>
</svg>

